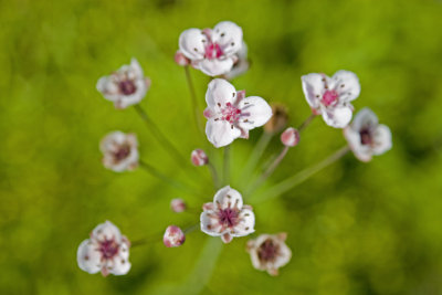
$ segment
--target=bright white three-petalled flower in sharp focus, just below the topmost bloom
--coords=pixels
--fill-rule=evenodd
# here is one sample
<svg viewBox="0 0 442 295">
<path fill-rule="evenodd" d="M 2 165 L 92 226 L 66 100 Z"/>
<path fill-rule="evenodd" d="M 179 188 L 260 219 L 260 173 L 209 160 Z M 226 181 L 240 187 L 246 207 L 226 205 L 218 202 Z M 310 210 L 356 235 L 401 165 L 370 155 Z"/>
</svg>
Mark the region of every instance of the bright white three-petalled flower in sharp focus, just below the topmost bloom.
<svg viewBox="0 0 442 295">
<path fill-rule="evenodd" d="M 209 83 L 206 135 L 215 147 L 230 145 L 239 137 L 249 138 L 249 130 L 272 117 L 272 108 L 263 98 L 244 96 L 245 92 L 236 92 L 225 80 L 214 78 Z"/>
</svg>

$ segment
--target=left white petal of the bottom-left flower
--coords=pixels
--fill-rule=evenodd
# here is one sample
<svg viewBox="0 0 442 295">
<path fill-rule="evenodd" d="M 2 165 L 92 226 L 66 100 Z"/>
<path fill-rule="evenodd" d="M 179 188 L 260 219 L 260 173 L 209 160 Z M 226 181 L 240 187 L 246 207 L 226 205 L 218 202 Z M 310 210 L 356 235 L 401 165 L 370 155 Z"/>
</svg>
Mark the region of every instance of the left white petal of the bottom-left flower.
<svg viewBox="0 0 442 295">
<path fill-rule="evenodd" d="M 76 252 L 76 262 L 82 271 L 95 274 L 102 270 L 102 255 L 90 239 L 84 240 Z"/>
</svg>

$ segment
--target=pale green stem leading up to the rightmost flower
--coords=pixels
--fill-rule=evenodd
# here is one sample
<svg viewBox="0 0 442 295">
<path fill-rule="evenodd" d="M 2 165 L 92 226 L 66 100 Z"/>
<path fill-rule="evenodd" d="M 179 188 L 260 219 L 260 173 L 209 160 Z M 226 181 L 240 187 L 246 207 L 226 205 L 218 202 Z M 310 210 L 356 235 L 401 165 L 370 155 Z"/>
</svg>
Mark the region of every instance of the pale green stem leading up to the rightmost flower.
<svg viewBox="0 0 442 295">
<path fill-rule="evenodd" d="M 270 188 L 269 190 L 266 190 L 263 194 L 260 196 L 260 198 L 257 198 L 254 202 L 263 202 L 266 201 L 269 199 L 273 199 L 276 198 L 278 196 L 281 196 L 282 193 L 288 191 L 290 189 L 296 187 L 297 185 L 304 182 L 305 180 L 307 180 L 309 177 L 312 177 L 313 175 L 315 175 L 316 172 L 320 171 L 322 169 L 324 169 L 325 167 L 332 165 L 333 162 L 337 161 L 338 159 L 340 159 L 341 157 L 344 157 L 348 151 L 349 151 L 349 147 L 345 146 L 340 149 L 338 149 L 337 151 L 335 151 L 334 154 L 332 154 L 332 156 L 329 156 L 328 158 L 324 159 L 323 161 L 308 167 L 299 172 L 297 172 L 296 175 L 283 180 L 282 182 L 275 185 L 274 187 Z"/>
</svg>

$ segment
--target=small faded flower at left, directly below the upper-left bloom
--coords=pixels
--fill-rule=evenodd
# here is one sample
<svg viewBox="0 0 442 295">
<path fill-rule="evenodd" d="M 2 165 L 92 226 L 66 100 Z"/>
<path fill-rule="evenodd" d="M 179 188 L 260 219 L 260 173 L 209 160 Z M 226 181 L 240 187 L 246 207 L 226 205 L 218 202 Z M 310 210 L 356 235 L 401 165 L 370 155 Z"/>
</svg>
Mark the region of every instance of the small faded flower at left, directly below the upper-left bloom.
<svg viewBox="0 0 442 295">
<path fill-rule="evenodd" d="M 99 143 L 99 149 L 107 169 L 122 172 L 138 167 L 138 140 L 135 134 L 109 133 Z"/>
</svg>

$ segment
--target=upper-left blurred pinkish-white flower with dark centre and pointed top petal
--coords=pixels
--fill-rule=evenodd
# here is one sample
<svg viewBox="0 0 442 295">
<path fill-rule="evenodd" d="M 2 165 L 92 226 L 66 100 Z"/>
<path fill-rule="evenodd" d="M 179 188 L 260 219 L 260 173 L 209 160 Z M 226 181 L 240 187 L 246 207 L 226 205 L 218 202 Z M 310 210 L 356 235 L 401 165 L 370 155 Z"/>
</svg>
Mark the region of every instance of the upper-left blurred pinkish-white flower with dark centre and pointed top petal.
<svg viewBox="0 0 442 295">
<path fill-rule="evenodd" d="M 103 76 L 97 82 L 97 89 L 103 96 L 114 102 L 116 108 L 126 108 L 138 104 L 145 97 L 150 86 L 150 80 L 145 78 L 143 69 L 136 59 L 129 65 L 123 65 L 109 76 Z"/>
</svg>

